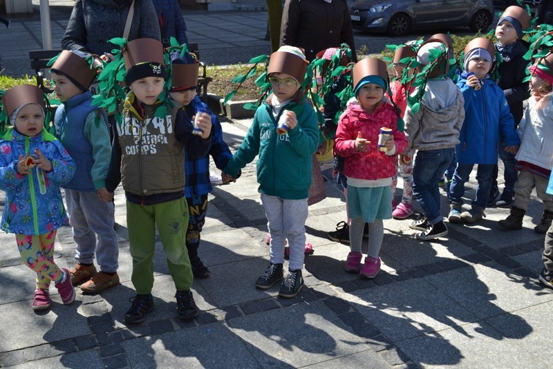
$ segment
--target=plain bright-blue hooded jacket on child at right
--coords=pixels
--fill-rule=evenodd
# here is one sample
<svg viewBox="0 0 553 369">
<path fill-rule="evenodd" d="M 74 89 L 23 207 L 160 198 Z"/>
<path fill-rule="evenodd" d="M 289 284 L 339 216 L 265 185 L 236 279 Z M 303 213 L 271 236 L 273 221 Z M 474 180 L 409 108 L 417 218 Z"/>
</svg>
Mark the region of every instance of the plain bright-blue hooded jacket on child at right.
<svg viewBox="0 0 553 369">
<path fill-rule="evenodd" d="M 521 144 L 503 90 L 491 79 L 482 79 L 482 88 L 475 91 L 467 85 L 466 72 L 460 76 L 457 86 L 465 97 L 465 122 L 456 147 L 457 161 L 497 164 L 500 138 L 505 146 Z"/>
</svg>

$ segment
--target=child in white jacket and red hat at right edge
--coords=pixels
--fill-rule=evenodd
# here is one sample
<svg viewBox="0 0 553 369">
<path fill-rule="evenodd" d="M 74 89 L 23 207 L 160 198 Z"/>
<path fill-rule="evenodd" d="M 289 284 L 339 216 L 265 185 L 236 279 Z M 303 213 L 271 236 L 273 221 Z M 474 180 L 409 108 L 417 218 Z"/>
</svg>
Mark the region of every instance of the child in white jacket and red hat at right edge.
<svg viewBox="0 0 553 369">
<path fill-rule="evenodd" d="M 543 201 L 545 210 L 540 224 L 534 231 L 545 234 L 553 219 L 553 196 L 547 194 L 547 181 L 553 167 L 553 54 L 538 59 L 529 68 L 532 73 L 530 91 L 534 98 L 528 100 L 523 120 L 518 126 L 521 147 L 516 154 L 518 180 L 514 184 L 514 203 L 507 219 L 499 225 L 505 229 L 521 229 L 523 217 L 528 209 L 532 189 Z"/>
</svg>

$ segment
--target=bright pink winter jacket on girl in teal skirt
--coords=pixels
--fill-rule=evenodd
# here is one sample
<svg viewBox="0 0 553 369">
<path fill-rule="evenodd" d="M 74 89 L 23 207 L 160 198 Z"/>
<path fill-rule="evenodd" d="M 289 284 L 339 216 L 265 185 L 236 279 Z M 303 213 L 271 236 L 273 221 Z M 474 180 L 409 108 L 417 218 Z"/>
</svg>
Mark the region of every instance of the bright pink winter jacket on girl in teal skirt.
<svg viewBox="0 0 553 369">
<path fill-rule="evenodd" d="M 341 115 L 336 131 L 334 150 L 337 155 L 346 158 L 344 175 L 348 178 L 364 180 L 379 180 L 395 176 L 396 155 L 402 153 L 407 146 L 403 132 L 397 130 L 397 114 L 395 107 L 386 102 L 380 104 L 373 113 L 368 113 L 357 100 L 348 102 L 346 111 Z M 378 150 L 378 134 L 381 127 L 392 129 L 395 140 L 395 153 L 386 155 Z M 355 149 L 357 133 L 371 141 L 368 151 Z"/>
</svg>

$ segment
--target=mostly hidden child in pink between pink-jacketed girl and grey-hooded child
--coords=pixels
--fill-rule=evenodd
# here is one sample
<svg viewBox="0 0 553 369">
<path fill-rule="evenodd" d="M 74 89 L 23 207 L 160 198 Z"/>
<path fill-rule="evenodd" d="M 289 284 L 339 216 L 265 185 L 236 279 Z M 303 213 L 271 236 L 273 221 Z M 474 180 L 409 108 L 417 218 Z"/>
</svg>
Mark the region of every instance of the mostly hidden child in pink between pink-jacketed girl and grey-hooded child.
<svg viewBox="0 0 553 369">
<path fill-rule="evenodd" d="M 411 84 L 401 82 L 403 71 L 406 67 L 405 59 L 415 57 L 416 52 L 413 46 L 400 46 L 395 49 L 393 55 L 392 67 L 395 72 L 395 81 L 391 82 L 390 90 L 392 92 L 391 100 L 401 109 L 400 117 L 403 118 L 405 108 L 407 107 L 406 96 L 411 93 Z M 395 202 L 395 188 L 397 187 L 397 176 L 392 180 L 392 216 L 394 219 L 406 219 L 413 214 L 413 150 L 406 151 L 397 155 L 397 171 L 403 180 L 402 200 L 399 204 Z M 397 205 L 396 205 L 397 204 Z"/>
</svg>

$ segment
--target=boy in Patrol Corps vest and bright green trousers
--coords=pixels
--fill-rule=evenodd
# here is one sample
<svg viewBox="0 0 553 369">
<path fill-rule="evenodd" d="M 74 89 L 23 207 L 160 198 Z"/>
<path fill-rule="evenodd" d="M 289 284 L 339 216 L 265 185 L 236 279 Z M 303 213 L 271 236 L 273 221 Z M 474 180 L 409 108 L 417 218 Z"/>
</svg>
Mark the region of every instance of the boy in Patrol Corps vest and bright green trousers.
<svg viewBox="0 0 553 369">
<path fill-rule="evenodd" d="M 108 189 L 122 182 L 126 196 L 126 223 L 133 257 L 131 281 L 137 292 L 125 323 L 142 323 L 153 309 L 153 253 L 156 229 L 167 256 L 176 286 L 178 315 L 198 315 L 190 287 L 193 281 L 188 253 L 183 252 L 188 207 L 185 202 L 183 145 L 189 152 L 204 156 L 211 146 L 209 115 L 201 113 L 198 128 L 180 106 L 164 104 L 164 55 L 156 39 L 135 39 L 124 46 L 126 86 L 122 121 L 118 122 L 110 166 Z M 113 61 L 112 61 L 113 63 Z M 106 69 L 104 69 L 105 71 Z M 102 76 L 100 76 L 102 77 Z"/>
</svg>

